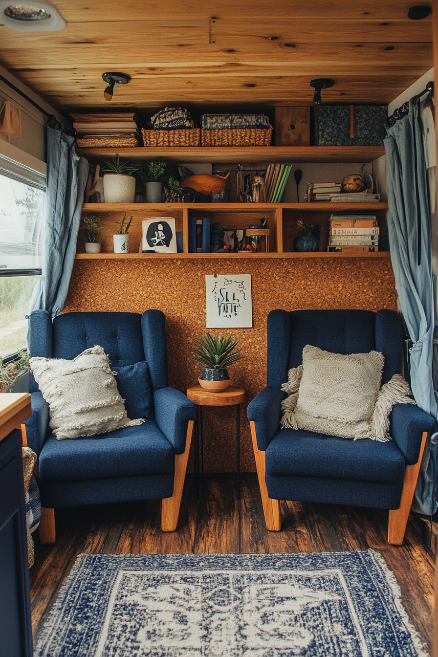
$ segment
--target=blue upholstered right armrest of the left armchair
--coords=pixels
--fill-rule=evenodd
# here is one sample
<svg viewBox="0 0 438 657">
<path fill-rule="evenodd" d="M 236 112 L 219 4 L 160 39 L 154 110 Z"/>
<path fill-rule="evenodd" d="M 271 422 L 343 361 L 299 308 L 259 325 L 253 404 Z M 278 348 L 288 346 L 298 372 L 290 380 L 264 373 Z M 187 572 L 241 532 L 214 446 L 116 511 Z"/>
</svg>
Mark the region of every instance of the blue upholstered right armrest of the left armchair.
<svg viewBox="0 0 438 657">
<path fill-rule="evenodd" d="M 187 425 L 196 420 L 198 409 L 182 392 L 174 388 L 160 388 L 154 392 L 155 421 L 158 428 L 175 449 L 182 454 L 186 446 Z"/>
</svg>

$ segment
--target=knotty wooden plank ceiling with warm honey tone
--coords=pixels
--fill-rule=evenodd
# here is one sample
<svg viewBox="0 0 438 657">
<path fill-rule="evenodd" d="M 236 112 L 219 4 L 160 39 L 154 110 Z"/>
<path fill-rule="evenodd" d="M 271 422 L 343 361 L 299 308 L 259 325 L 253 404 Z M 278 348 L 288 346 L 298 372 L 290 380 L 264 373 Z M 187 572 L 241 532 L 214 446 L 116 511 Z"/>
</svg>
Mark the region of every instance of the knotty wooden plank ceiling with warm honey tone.
<svg viewBox="0 0 438 657">
<path fill-rule="evenodd" d="M 60 32 L 0 24 L 0 61 L 60 110 L 387 103 L 432 66 L 431 18 L 412 0 L 55 0 Z M 1 20 L 1 18 L 0 18 Z M 105 71 L 131 82 L 103 99 Z"/>
</svg>

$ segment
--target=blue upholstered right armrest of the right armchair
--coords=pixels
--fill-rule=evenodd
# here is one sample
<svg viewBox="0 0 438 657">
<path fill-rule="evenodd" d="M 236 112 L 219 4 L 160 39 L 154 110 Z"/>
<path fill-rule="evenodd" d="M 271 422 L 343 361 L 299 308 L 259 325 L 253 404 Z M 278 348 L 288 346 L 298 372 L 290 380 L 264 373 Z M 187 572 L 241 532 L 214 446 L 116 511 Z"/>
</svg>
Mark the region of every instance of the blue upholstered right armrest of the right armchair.
<svg viewBox="0 0 438 657">
<path fill-rule="evenodd" d="M 431 431 L 435 420 L 413 404 L 395 404 L 391 413 L 389 433 L 400 447 L 406 464 L 418 462 L 422 435 Z"/>
</svg>

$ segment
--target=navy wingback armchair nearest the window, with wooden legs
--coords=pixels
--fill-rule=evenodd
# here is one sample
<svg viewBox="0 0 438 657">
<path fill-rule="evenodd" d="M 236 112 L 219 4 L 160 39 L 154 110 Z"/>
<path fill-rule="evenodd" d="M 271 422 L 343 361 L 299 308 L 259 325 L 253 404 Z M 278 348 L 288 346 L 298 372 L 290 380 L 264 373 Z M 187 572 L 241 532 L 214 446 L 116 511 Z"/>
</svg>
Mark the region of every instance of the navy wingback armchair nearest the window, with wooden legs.
<svg viewBox="0 0 438 657">
<path fill-rule="evenodd" d="M 119 390 L 127 399 L 128 416 L 135 413 L 129 413 L 128 403 L 142 396 L 152 397 L 150 408 L 140 426 L 56 440 L 49 428 L 49 406 L 30 374 L 32 417 L 26 420 L 26 436 L 38 455 L 43 543 L 55 542 L 57 507 L 162 499 L 162 530 L 177 527 L 196 406 L 168 387 L 164 314 L 66 313 L 53 323 L 46 311 L 30 315 L 32 356 L 72 359 L 95 344 L 108 353 L 115 371 L 132 366 Z"/>
</svg>

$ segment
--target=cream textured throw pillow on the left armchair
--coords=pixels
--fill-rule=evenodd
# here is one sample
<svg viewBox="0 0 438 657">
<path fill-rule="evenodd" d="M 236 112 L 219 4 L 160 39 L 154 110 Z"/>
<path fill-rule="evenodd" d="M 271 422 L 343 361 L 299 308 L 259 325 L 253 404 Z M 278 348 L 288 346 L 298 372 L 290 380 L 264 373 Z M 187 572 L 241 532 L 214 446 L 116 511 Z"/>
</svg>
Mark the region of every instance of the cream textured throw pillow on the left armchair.
<svg viewBox="0 0 438 657">
<path fill-rule="evenodd" d="M 29 362 L 39 390 L 49 403 L 50 426 L 58 440 L 141 424 L 142 420 L 127 417 L 102 347 L 86 349 L 72 361 L 35 357 Z"/>
</svg>

